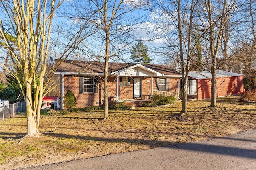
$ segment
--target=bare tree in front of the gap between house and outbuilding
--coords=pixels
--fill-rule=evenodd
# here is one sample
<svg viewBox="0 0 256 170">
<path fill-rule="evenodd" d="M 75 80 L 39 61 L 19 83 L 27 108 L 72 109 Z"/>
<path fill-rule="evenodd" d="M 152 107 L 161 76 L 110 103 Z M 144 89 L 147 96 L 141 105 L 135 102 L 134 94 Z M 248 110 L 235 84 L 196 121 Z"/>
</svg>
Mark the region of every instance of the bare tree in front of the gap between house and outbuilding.
<svg viewBox="0 0 256 170">
<path fill-rule="evenodd" d="M 169 50 L 173 50 L 174 52 L 170 55 L 168 53 L 164 53 L 164 55 L 168 55 L 175 61 L 176 55 L 179 56 L 179 61 L 181 65 L 181 73 L 182 73 L 182 92 L 183 92 L 183 100 L 182 100 L 182 113 L 187 113 L 186 107 L 186 100 L 187 100 L 187 84 L 188 84 L 188 74 L 190 72 L 190 64 L 193 55 L 193 51 L 196 47 L 196 42 L 192 44 L 192 35 L 194 34 L 196 29 L 193 29 L 196 26 L 195 22 L 195 14 L 194 10 L 195 6 L 199 5 L 198 0 L 194 1 L 181 1 L 181 0 L 174 0 L 174 1 L 157 1 L 160 10 L 163 12 L 161 13 L 160 17 L 162 18 L 164 25 L 167 27 L 161 27 L 163 29 L 162 35 L 164 37 L 168 37 L 166 39 L 166 47 Z M 170 20 L 172 23 L 170 23 Z M 170 25 L 172 25 L 171 28 Z"/>
</svg>

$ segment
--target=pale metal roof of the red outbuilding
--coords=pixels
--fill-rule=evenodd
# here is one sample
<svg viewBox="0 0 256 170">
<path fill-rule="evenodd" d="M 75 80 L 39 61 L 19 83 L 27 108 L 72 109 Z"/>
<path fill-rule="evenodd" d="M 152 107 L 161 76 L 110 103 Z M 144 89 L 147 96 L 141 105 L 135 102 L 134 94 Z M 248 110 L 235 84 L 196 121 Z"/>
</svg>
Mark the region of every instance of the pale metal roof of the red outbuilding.
<svg viewBox="0 0 256 170">
<path fill-rule="evenodd" d="M 210 79 L 212 78 L 212 74 L 210 71 L 192 71 L 188 73 L 188 76 L 190 78 L 194 78 L 196 80 L 202 80 L 202 79 Z M 216 72 L 216 77 L 221 78 L 221 77 L 235 77 L 235 76 L 244 76 L 243 74 L 238 74 L 234 72 L 227 72 L 227 71 L 222 71 L 222 70 L 217 70 Z"/>
</svg>

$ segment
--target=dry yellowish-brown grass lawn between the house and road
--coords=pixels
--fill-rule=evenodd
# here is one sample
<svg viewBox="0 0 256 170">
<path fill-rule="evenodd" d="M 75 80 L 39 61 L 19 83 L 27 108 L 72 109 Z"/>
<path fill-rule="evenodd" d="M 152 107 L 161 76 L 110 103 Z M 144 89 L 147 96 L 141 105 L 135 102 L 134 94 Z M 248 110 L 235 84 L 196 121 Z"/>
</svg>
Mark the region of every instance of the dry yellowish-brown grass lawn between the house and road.
<svg viewBox="0 0 256 170">
<path fill-rule="evenodd" d="M 110 120 L 102 121 L 103 111 L 69 113 L 40 118 L 40 138 L 26 135 L 26 116 L 0 122 L 0 167 L 22 168 L 89 158 L 119 152 L 148 149 L 174 143 L 222 137 L 256 128 L 256 103 L 237 97 L 188 102 L 188 114 L 177 119 L 181 102 L 166 107 L 136 107 L 129 111 L 110 110 Z"/>
</svg>

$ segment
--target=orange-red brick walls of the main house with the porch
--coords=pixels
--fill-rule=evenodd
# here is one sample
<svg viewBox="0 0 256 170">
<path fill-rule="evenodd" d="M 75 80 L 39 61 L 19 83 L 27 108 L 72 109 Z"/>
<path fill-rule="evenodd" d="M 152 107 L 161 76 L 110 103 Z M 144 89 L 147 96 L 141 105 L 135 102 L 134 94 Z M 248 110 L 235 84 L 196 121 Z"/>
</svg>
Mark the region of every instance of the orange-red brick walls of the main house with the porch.
<svg viewBox="0 0 256 170">
<path fill-rule="evenodd" d="M 120 76 L 121 77 L 121 76 Z M 151 95 L 151 77 L 134 77 L 142 78 L 142 95 Z M 104 82 L 102 78 L 98 78 L 98 86 L 103 86 Z M 60 75 L 60 82 L 62 82 L 62 75 Z M 113 83 L 114 82 L 114 83 Z M 116 77 L 110 76 L 108 78 L 108 98 L 116 96 Z M 119 100 L 132 99 L 133 98 L 133 79 L 130 80 L 130 86 L 120 86 L 119 81 Z M 77 108 L 83 108 L 88 106 L 99 106 L 103 104 L 103 89 L 99 88 L 98 93 L 79 93 L 79 76 L 64 76 L 64 95 L 71 90 L 76 97 Z M 153 78 L 153 90 L 156 90 L 156 78 Z M 175 78 L 169 78 L 169 91 L 178 92 L 178 80 Z M 60 100 L 62 108 L 62 84 L 60 85 Z"/>
</svg>

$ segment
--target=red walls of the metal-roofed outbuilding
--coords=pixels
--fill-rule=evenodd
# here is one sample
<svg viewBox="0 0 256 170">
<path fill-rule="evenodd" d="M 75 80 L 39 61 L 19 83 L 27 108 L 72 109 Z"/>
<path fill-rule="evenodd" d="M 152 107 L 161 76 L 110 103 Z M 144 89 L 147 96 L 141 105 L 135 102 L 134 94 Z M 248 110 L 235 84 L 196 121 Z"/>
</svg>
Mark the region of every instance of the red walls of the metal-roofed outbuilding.
<svg viewBox="0 0 256 170">
<path fill-rule="evenodd" d="M 198 80 L 198 99 L 211 98 L 211 81 Z M 228 96 L 232 94 L 240 94 L 244 90 L 243 76 L 226 77 L 216 79 L 216 96 Z"/>
</svg>

